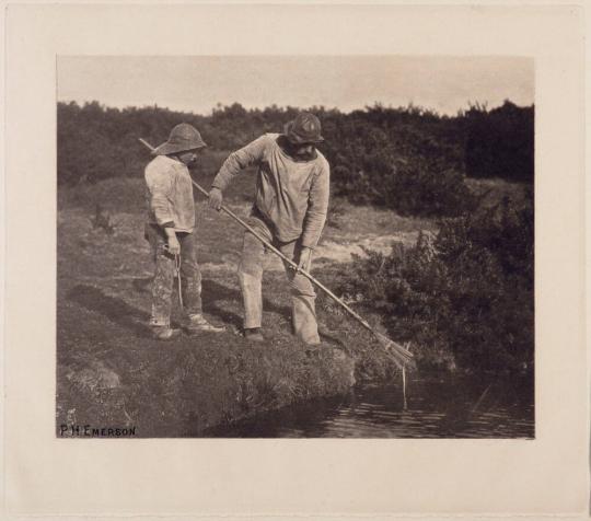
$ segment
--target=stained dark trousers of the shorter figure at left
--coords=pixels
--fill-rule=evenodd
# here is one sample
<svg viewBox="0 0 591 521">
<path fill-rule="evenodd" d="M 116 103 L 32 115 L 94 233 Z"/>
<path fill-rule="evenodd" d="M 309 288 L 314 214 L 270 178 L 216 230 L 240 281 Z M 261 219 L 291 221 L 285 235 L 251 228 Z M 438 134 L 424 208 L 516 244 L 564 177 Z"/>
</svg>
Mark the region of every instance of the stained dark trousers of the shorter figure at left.
<svg viewBox="0 0 591 521">
<path fill-rule="evenodd" d="M 152 314 L 150 325 L 169 326 L 176 264 L 164 245 L 167 238 L 164 231 L 155 225 L 146 227 L 146 239 L 150 243 L 155 265 L 152 282 Z M 194 233 L 176 233 L 181 244 L 181 292 L 187 315 L 201 313 L 201 271 L 197 264 L 197 246 Z"/>
</svg>

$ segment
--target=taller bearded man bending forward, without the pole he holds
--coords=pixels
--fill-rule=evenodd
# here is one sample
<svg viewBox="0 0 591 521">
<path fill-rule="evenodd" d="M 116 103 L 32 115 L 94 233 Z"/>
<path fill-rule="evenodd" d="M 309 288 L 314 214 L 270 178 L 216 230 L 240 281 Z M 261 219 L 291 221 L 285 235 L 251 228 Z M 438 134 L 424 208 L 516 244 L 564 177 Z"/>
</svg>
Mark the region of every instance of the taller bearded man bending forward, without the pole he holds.
<svg viewBox="0 0 591 521">
<path fill-rule="evenodd" d="M 323 141 L 316 116 L 300 113 L 285 132 L 266 134 L 225 160 L 211 185 L 209 205 L 220 209 L 222 192 L 243 169 L 257 165 L 257 188 L 250 224 L 300 268 L 310 270 L 328 209 L 329 166 L 316 150 Z M 251 232 L 244 234 L 239 279 L 244 301 L 244 336 L 260 341 L 262 278 L 265 246 Z M 292 324 L 305 344 L 320 343 L 314 288 L 309 279 L 286 265 L 292 294 Z"/>
</svg>

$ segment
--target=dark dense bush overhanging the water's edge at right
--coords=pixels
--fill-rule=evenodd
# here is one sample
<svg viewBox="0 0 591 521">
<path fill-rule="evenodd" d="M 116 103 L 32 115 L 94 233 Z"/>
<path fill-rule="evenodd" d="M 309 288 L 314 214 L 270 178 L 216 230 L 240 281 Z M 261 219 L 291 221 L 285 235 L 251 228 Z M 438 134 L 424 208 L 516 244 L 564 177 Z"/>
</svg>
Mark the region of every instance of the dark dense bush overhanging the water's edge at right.
<svg viewBox="0 0 591 521">
<path fill-rule="evenodd" d="M 532 205 L 506 198 L 443 221 L 437 236 L 421 234 L 412 248 L 367 252 L 341 291 L 379 311 L 424 366 L 531 370 L 533 244 Z"/>
</svg>

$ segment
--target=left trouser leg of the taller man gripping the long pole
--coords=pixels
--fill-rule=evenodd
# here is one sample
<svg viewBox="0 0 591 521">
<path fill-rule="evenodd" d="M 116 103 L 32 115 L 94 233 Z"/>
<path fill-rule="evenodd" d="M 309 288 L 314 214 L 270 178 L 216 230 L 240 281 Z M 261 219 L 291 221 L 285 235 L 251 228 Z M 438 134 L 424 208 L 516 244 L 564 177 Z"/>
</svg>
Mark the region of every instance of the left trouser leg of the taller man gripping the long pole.
<svg viewBox="0 0 591 521">
<path fill-rule="evenodd" d="M 266 224 L 251 218 L 250 224 L 265 240 L 270 241 L 270 232 Z M 265 262 L 265 246 L 251 232 L 244 233 L 242 257 L 237 275 L 244 303 L 244 328 L 260 327 L 263 320 L 262 280 Z"/>
</svg>

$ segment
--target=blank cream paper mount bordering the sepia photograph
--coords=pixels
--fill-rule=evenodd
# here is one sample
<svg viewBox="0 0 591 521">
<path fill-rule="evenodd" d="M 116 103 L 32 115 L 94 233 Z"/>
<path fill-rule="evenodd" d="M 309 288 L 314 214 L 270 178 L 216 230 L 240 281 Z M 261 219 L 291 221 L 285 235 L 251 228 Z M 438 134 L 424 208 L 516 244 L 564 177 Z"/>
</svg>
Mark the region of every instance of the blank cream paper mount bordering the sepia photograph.
<svg viewBox="0 0 591 521">
<path fill-rule="evenodd" d="M 9 3 L 2 13 L 7 519 L 586 517 L 581 4 Z M 535 440 L 56 438 L 56 58 L 269 54 L 534 59 Z"/>
</svg>

